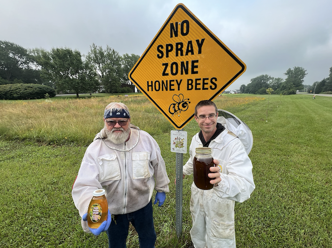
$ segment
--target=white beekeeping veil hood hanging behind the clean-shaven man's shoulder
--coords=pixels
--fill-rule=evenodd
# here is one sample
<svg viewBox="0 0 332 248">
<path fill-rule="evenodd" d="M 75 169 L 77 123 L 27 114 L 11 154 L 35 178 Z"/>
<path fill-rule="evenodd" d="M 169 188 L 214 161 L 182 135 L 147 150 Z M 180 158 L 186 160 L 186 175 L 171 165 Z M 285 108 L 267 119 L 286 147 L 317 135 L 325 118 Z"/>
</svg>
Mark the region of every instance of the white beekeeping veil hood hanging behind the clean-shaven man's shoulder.
<svg viewBox="0 0 332 248">
<path fill-rule="evenodd" d="M 247 154 L 249 154 L 253 142 L 252 132 L 249 126 L 226 110 L 218 109 L 218 113 L 217 123 L 226 126 L 228 130 L 237 135 L 244 144 Z"/>
</svg>

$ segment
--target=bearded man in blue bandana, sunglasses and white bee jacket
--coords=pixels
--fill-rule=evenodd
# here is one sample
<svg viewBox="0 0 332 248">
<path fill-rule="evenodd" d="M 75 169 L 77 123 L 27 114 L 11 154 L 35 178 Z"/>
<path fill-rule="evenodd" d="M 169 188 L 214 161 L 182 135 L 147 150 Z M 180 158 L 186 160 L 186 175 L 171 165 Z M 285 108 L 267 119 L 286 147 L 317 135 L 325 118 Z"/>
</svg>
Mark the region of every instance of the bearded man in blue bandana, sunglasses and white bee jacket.
<svg viewBox="0 0 332 248">
<path fill-rule="evenodd" d="M 88 146 L 72 196 L 82 216 L 85 232 L 106 231 L 109 248 L 125 248 L 129 222 L 135 227 L 141 248 L 154 248 L 153 190 L 155 204 L 163 205 L 169 192 L 165 162 L 155 139 L 130 123 L 123 103 L 110 103 L 104 112 L 104 128 Z M 98 229 L 87 226 L 88 204 L 95 189 L 104 188 L 108 218 Z M 112 214 L 112 216 L 110 215 Z"/>
</svg>

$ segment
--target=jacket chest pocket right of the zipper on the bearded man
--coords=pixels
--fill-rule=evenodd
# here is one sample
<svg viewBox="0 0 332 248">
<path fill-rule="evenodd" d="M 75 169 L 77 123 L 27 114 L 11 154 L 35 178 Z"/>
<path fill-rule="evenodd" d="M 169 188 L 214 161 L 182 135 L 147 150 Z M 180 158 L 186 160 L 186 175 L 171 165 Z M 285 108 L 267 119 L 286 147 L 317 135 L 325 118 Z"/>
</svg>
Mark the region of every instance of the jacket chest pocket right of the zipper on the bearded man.
<svg viewBox="0 0 332 248">
<path fill-rule="evenodd" d="M 149 152 L 133 152 L 133 178 L 150 178 L 149 171 L 149 161 L 150 153 Z"/>
</svg>

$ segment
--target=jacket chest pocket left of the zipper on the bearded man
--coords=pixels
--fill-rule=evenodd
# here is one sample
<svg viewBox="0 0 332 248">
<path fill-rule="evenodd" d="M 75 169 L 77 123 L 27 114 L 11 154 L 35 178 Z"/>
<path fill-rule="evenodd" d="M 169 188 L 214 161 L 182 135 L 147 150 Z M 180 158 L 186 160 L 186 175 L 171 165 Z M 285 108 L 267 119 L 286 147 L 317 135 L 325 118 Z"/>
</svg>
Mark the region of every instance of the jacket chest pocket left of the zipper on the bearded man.
<svg viewBox="0 0 332 248">
<path fill-rule="evenodd" d="M 121 179 L 120 166 L 115 153 L 99 157 L 98 163 L 100 183 Z"/>
</svg>

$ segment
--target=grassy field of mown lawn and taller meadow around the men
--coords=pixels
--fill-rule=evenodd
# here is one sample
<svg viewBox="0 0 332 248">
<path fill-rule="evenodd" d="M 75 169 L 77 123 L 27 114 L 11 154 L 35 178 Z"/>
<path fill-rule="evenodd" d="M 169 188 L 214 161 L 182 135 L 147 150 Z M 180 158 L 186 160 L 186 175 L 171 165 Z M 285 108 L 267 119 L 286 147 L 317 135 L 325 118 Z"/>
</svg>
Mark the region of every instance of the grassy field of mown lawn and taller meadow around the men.
<svg viewBox="0 0 332 248">
<path fill-rule="evenodd" d="M 192 245 L 192 176 L 183 180 L 182 234 L 175 231 L 175 129 L 143 95 L 129 95 L 0 100 L 0 247 L 108 247 L 106 233 L 83 232 L 71 190 L 110 102 L 129 107 L 132 123 L 153 135 L 166 162 L 170 192 L 162 207 L 154 205 L 156 248 Z M 214 102 L 253 134 L 256 188 L 235 204 L 237 247 L 332 247 L 332 97 L 228 94 Z M 199 128 L 192 120 L 183 130 L 189 151 Z M 183 161 L 188 158 L 184 154 Z M 127 248 L 138 247 L 130 227 Z"/>
</svg>

